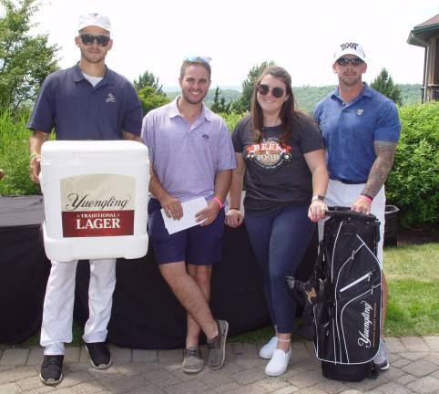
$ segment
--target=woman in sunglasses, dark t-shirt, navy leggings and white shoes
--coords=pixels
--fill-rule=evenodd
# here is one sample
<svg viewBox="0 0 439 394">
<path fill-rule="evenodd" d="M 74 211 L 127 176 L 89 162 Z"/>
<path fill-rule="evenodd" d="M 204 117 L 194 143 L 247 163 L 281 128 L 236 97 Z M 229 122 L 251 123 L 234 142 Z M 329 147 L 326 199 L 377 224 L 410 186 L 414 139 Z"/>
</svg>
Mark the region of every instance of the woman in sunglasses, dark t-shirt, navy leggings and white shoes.
<svg viewBox="0 0 439 394">
<path fill-rule="evenodd" d="M 226 223 L 238 227 L 242 180 L 250 244 L 262 268 L 264 294 L 276 336 L 260 349 L 265 373 L 279 376 L 291 357 L 295 303 L 285 285 L 294 276 L 316 223 L 324 217 L 328 173 L 323 141 L 312 119 L 294 109 L 291 76 L 269 66 L 255 83 L 250 117 L 232 134 L 238 168 Z"/>
</svg>

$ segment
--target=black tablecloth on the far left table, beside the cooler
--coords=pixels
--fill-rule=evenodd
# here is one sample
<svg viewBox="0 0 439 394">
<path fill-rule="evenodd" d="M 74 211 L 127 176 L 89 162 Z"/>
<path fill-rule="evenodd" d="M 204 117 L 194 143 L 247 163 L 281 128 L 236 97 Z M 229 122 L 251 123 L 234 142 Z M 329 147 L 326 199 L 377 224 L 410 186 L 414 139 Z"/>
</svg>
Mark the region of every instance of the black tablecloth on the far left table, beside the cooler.
<svg viewBox="0 0 439 394">
<path fill-rule="evenodd" d="M 41 325 L 50 262 L 41 196 L 0 197 L 0 342 L 18 343 Z"/>
</svg>

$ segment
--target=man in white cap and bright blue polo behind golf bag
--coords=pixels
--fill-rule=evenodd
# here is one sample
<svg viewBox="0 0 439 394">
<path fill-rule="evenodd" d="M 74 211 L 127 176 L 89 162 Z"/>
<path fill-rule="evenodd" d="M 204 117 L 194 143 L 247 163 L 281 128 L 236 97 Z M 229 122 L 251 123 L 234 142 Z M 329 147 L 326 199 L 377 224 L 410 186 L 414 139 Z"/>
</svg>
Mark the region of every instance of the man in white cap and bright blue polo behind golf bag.
<svg viewBox="0 0 439 394">
<path fill-rule="evenodd" d="M 360 44 L 346 42 L 336 48 L 332 69 L 339 86 L 314 109 L 327 149 L 330 175 L 326 203 L 373 213 L 381 222 L 377 258 L 383 270 L 384 182 L 393 165 L 401 124 L 391 99 L 362 82 L 366 72 Z M 383 275 L 382 337 L 373 359 L 389 368 L 384 341 L 387 283 Z"/>
</svg>

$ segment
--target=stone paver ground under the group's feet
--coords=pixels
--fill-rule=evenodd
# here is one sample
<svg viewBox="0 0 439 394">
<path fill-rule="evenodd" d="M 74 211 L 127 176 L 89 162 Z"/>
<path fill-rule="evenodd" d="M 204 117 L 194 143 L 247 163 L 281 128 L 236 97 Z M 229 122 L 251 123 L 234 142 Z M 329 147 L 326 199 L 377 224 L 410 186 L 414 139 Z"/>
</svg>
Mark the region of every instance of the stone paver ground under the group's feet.
<svg viewBox="0 0 439 394">
<path fill-rule="evenodd" d="M 292 344 L 287 372 L 278 378 L 264 374 L 260 345 L 229 344 L 226 363 L 217 371 L 181 371 L 181 350 L 131 350 L 111 347 L 113 366 L 91 368 L 84 347 L 68 347 L 64 379 L 51 388 L 38 378 L 41 348 L 0 350 L 0 394 L 438 394 L 439 336 L 387 339 L 391 368 L 380 377 L 344 383 L 322 377 L 311 343 Z M 203 349 L 203 352 L 206 352 Z"/>
</svg>

